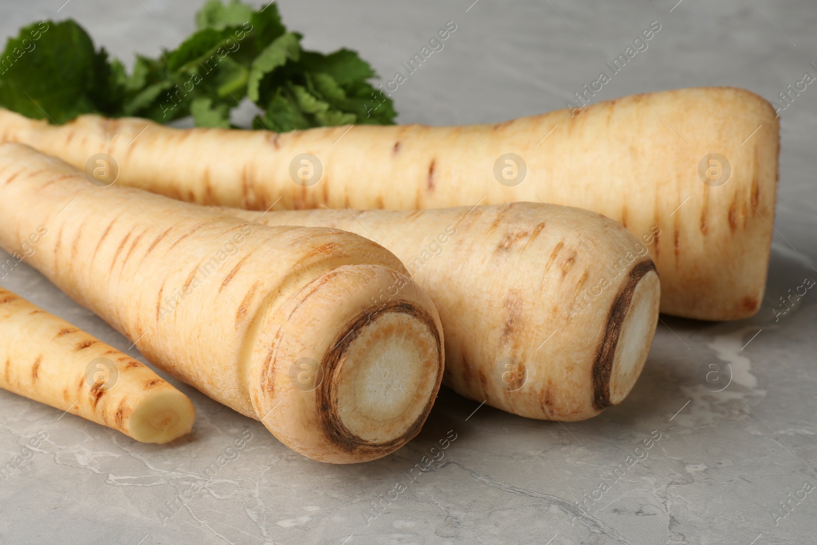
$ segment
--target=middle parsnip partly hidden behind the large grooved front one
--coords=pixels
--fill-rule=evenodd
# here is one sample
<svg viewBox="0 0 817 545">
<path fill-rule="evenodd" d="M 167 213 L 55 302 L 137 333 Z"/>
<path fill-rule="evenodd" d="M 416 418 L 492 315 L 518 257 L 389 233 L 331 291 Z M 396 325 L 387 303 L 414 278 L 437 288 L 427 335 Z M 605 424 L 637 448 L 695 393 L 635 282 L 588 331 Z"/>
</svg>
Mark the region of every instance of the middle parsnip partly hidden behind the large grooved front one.
<svg viewBox="0 0 817 545">
<path fill-rule="evenodd" d="M 337 227 L 389 248 L 440 312 L 444 384 L 498 409 L 590 418 L 624 399 L 650 351 L 660 286 L 649 244 L 596 212 L 543 203 L 218 210 L 270 226 Z"/>
</svg>

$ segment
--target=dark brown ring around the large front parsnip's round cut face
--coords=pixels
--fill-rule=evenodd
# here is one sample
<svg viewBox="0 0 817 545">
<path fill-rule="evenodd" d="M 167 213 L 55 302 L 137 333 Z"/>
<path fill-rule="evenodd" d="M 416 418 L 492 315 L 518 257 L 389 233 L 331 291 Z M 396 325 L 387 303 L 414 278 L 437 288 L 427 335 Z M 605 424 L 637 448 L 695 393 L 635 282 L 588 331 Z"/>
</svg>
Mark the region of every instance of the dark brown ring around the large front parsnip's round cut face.
<svg viewBox="0 0 817 545">
<path fill-rule="evenodd" d="M 366 324 L 377 319 L 378 316 L 389 312 L 407 314 L 420 320 L 423 324 L 426 324 L 428 331 L 435 337 L 437 345 L 437 361 L 439 362 L 437 368 L 437 387 L 440 386 L 440 382 L 443 378 L 444 360 L 440 333 L 437 331 L 434 319 L 425 310 L 418 309 L 408 302 L 398 301 L 390 302 L 388 305 L 372 313 L 365 310 L 361 312 L 355 319 L 351 320 L 346 328 L 342 329 L 334 347 L 324 355 L 324 360 L 321 362 L 321 367 L 324 369 L 324 381 L 321 382 L 320 386 L 318 386 L 318 390 L 315 392 L 319 422 L 324 430 L 324 436 L 330 443 L 336 445 L 338 449 L 342 449 L 347 453 L 382 454 L 384 451 L 391 452 L 391 450 L 400 447 L 400 445 L 405 444 L 413 436 L 417 435 L 420 431 L 420 427 L 422 427 L 422 422 L 426 421 L 428 413 L 431 413 L 431 406 L 434 404 L 435 399 L 432 397 L 422 409 L 417 420 L 406 429 L 403 435 L 382 443 L 373 443 L 370 440 L 364 440 L 355 436 L 355 434 L 344 426 L 341 420 L 341 415 L 338 413 L 337 400 L 334 400 L 332 395 L 333 391 L 337 391 L 337 370 L 339 364 L 343 359 L 346 349 L 350 346 L 351 342 L 355 340 Z"/>
</svg>

